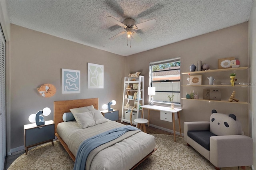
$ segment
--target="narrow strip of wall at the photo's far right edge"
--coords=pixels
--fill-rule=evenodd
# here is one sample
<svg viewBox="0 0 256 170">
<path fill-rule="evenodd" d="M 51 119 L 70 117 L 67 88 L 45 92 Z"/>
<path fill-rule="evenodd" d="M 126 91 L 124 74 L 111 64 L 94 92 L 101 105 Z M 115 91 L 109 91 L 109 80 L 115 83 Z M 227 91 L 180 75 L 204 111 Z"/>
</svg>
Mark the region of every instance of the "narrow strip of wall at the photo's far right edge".
<svg viewBox="0 0 256 170">
<path fill-rule="evenodd" d="M 249 26 L 248 26 L 248 38 L 249 38 L 249 82 L 252 84 L 252 88 L 249 88 L 249 134 L 254 140 L 254 162 L 253 168 L 256 168 L 256 1 L 250 14 Z"/>
</svg>

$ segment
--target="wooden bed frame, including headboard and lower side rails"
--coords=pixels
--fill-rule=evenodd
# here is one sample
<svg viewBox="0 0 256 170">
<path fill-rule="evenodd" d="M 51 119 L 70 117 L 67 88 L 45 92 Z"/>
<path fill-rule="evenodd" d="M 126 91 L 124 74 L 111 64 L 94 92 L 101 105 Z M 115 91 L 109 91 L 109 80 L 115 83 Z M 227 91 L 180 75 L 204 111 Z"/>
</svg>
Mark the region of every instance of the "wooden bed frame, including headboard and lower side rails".
<svg viewBox="0 0 256 170">
<path fill-rule="evenodd" d="M 68 152 L 69 156 L 72 158 L 72 160 L 75 162 L 76 157 L 72 154 L 72 152 L 68 149 L 68 145 L 60 138 L 57 132 L 57 125 L 58 123 L 63 122 L 62 115 L 65 112 L 70 112 L 69 109 L 78 108 L 78 107 L 85 107 L 93 105 L 95 109 L 98 109 L 99 107 L 99 99 L 98 98 L 92 98 L 92 99 L 77 99 L 77 100 L 66 100 L 66 101 L 54 101 L 54 133 L 55 136 L 60 140 L 60 143 L 65 148 L 65 150 Z M 132 167 L 132 169 L 136 168 L 141 162 L 143 162 L 146 158 L 148 158 L 153 152 L 155 152 L 156 148 L 150 154 L 148 154 L 145 158 L 140 160 L 136 165 Z"/>
</svg>

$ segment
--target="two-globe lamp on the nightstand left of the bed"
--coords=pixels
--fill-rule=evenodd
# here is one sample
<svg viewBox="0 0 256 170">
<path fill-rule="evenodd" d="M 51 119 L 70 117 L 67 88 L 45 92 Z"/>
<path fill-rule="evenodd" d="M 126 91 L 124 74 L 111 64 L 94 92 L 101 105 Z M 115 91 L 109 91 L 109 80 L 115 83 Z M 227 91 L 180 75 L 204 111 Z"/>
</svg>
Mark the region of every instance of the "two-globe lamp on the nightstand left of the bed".
<svg viewBox="0 0 256 170">
<path fill-rule="evenodd" d="M 44 125 L 44 116 L 48 116 L 51 113 L 51 109 L 49 107 L 45 107 L 42 111 L 38 111 L 36 114 L 31 114 L 28 117 L 28 121 L 31 123 L 36 122 L 36 126 Z"/>
</svg>

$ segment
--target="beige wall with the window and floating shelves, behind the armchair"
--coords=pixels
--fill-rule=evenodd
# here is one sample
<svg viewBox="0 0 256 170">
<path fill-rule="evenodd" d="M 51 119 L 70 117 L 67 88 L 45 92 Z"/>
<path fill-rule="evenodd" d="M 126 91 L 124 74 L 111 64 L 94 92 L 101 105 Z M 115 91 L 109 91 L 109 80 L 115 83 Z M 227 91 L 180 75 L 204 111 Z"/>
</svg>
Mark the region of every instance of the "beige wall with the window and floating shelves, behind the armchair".
<svg viewBox="0 0 256 170">
<path fill-rule="evenodd" d="M 181 72 L 188 72 L 189 66 L 196 61 L 210 64 L 210 69 L 218 69 L 218 59 L 224 57 L 235 57 L 240 60 L 240 67 L 248 66 L 248 22 L 238 24 L 229 28 L 190 38 L 188 40 L 172 43 L 163 47 L 130 55 L 126 58 L 128 67 L 126 75 L 136 71 L 141 71 L 145 76 L 145 95 L 148 99 L 147 86 L 149 85 L 149 63 L 174 57 L 181 57 Z M 248 83 L 247 72 L 236 71 L 239 82 Z M 216 78 L 215 83 L 229 82 L 230 72 L 205 73 L 202 74 L 204 84 L 209 81 L 207 77 Z M 181 85 L 186 85 L 187 75 L 181 75 Z M 194 90 L 198 92 L 202 99 L 203 89 L 208 87 L 181 87 L 181 97 L 185 97 L 186 92 Z M 216 88 L 216 87 L 211 87 Z M 240 101 L 247 101 L 247 88 L 242 87 L 218 87 L 222 89 L 222 99 L 227 100 L 232 91 L 236 91 L 236 98 Z M 144 101 L 147 103 L 146 101 Z M 184 121 L 209 121 L 211 110 L 216 109 L 219 113 L 233 113 L 242 123 L 242 129 L 248 134 L 248 105 L 237 103 L 219 103 L 196 100 L 181 100 L 182 112 L 181 124 L 183 132 Z M 145 115 L 147 118 L 147 114 Z M 172 123 L 160 120 L 160 113 L 150 111 L 150 124 L 172 130 Z M 178 123 L 176 123 L 178 129 Z"/>
</svg>

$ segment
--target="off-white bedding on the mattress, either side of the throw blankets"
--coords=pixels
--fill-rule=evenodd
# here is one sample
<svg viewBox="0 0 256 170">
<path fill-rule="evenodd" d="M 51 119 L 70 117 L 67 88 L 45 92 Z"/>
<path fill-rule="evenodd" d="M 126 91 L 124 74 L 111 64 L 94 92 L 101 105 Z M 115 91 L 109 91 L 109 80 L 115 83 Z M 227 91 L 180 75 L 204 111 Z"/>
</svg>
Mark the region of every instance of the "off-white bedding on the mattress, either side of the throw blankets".
<svg viewBox="0 0 256 170">
<path fill-rule="evenodd" d="M 105 123 L 93 127 L 80 129 L 76 121 L 69 121 L 59 123 L 57 132 L 68 145 L 72 154 L 76 156 L 78 147 L 85 139 L 122 126 L 125 125 L 108 120 Z M 144 132 L 138 132 L 96 154 L 92 160 L 90 169 L 128 170 L 152 152 L 155 146 L 154 136 Z"/>
</svg>

